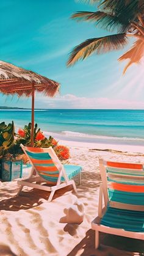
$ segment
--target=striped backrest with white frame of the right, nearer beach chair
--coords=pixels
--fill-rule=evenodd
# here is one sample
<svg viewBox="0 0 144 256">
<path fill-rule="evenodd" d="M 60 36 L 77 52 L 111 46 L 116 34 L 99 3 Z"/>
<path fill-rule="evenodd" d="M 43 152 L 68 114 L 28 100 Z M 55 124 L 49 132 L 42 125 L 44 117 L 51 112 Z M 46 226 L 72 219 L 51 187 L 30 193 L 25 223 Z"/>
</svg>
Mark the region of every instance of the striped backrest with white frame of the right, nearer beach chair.
<svg viewBox="0 0 144 256">
<path fill-rule="evenodd" d="M 143 164 L 99 159 L 105 203 L 110 207 L 144 211 Z"/>
</svg>

